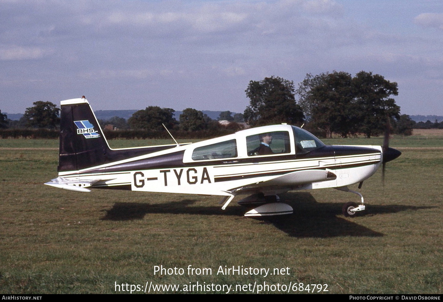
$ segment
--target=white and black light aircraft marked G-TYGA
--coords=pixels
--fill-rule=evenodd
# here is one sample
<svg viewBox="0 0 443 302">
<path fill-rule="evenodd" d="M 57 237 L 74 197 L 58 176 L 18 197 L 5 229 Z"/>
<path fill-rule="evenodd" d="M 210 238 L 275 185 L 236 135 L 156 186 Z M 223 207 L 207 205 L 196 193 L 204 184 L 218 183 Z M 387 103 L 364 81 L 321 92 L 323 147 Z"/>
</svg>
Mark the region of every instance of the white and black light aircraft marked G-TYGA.
<svg viewBox="0 0 443 302">
<path fill-rule="evenodd" d="M 389 136 L 389 135 L 388 135 Z M 263 145 L 268 145 L 264 147 Z M 239 194 L 245 216 L 290 214 L 279 194 L 290 190 L 334 188 L 358 194 L 361 204 L 346 203 L 345 216 L 365 209 L 363 196 L 347 186 L 375 173 L 401 152 L 384 146 L 326 146 L 291 125 L 249 128 L 197 143 L 111 149 L 86 98 L 61 102 L 56 188 L 125 189 L 145 192 L 223 196 L 224 210 Z M 384 170 L 384 169 L 383 169 Z"/>
</svg>

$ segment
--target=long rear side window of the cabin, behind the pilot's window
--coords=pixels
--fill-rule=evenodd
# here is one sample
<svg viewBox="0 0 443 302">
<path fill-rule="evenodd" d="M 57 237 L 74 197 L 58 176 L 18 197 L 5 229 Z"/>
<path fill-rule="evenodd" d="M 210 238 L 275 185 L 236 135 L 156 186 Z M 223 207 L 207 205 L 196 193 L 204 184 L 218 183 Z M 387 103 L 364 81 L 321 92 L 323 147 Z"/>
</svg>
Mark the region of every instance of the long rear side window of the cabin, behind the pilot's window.
<svg viewBox="0 0 443 302">
<path fill-rule="evenodd" d="M 193 160 L 230 159 L 233 157 L 237 157 L 236 140 L 227 140 L 221 143 L 198 147 L 192 152 Z"/>
</svg>

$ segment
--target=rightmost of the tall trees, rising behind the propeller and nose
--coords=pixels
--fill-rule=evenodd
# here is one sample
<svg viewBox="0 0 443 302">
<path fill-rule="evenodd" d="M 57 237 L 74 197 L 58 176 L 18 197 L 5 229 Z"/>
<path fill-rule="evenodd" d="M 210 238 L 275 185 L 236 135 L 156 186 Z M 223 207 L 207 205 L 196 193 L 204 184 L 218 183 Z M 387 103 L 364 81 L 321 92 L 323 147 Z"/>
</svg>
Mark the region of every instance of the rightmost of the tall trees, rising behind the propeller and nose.
<svg viewBox="0 0 443 302">
<path fill-rule="evenodd" d="M 384 132 L 387 118 L 400 118 L 400 106 L 391 95 L 398 95 L 397 83 L 372 72 L 358 72 L 353 79 L 355 101 L 360 112 L 358 129 L 367 138 Z"/>
</svg>

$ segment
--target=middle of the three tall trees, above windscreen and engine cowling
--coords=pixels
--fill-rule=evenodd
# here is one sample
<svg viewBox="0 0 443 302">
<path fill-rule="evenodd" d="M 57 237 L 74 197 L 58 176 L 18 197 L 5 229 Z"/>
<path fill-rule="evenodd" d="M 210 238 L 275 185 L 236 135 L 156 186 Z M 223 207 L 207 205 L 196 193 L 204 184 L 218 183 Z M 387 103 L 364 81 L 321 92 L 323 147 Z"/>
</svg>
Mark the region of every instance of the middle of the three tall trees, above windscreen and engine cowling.
<svg viewBox="0 0 443 302">
<path fill-rule="evenodd" d="M 353 104 L 352 77 L 347 72 L 307 74 L 297 90 L 299 104 L 309 117 L 311 128 L 321 128 L 326 137 L 338 132 L 343 137 L 353 134 L 356 107 Z"/>
</svg>

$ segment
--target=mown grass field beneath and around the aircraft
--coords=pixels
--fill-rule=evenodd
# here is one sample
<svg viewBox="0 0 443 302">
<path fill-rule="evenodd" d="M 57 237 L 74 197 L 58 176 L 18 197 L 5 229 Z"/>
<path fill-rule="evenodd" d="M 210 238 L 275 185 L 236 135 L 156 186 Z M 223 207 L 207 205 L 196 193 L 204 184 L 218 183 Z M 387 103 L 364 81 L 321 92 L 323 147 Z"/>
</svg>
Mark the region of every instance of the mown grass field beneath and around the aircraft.
<svg viewBox="0 0 443 302">
<path fill-rule="evenodd" d="M 327 284 L 330 294 L 441 294 L 443 136 L 394 138 L 390 146 L 403 154 L 388 163 L 385 187 L 379 172 L 365 181 L 365 215 L 343 217 L 342 204 L 358 196 L 322 189 L 284 194 L 294 214 L 263 222 L 244 218 L 235 200 L 222 211 L 217 196 L 51 188 L 43 183 L 57 175 L 58 141 L 0 140 L 0 292 L 114 293 L 116 283 L 152 281 L 192 293 L 208 292 L 184 287 L 198 282 L 232 285 L 231 293 L 237 284 L 303 283 Z M 184 273 L 154 274 L 161 265 Z M 190 275 L 188 265 L 212 274 Z M 217 275 L 220 266 L 241 265 L 289 270 Z"/>
</svg>

